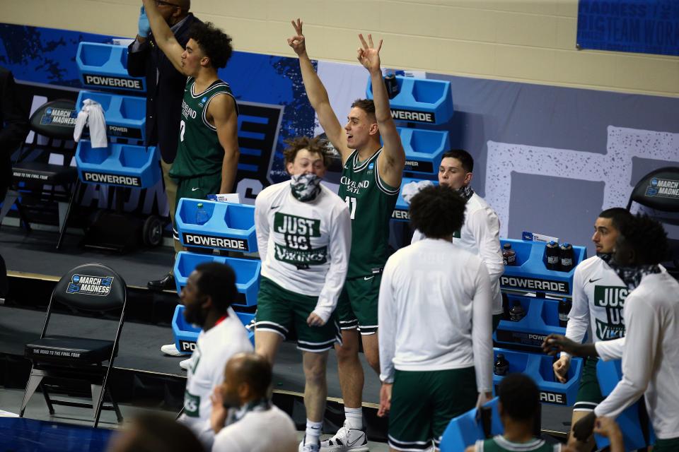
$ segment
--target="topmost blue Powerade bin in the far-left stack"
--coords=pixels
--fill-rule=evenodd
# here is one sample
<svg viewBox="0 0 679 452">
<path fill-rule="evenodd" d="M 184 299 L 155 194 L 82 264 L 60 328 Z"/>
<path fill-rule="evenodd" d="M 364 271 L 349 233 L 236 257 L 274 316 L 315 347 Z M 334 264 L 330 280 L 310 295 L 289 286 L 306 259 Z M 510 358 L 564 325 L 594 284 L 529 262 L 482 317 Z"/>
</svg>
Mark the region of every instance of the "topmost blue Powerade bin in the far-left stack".
<svg viewBox="0 0 679 452">
<path fill-rule="evenodd" d="M 81 42 L 76 52 L 80 81 L 88 88 L 146 92 L 146 79 L 127 74 L 127 47 Z"/>
</svg>

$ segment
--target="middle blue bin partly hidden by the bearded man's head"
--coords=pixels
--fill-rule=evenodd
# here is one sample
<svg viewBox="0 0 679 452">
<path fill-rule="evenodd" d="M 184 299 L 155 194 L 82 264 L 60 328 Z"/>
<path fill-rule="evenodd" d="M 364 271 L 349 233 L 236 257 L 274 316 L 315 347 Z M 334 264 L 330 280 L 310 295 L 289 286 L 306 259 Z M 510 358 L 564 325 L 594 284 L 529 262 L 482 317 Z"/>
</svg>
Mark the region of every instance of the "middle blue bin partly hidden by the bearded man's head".
<svg viewBox="0 0 679 452">
<path fill-rule="evenodd" d="M 262 263 L 258 259 L 243 259 L 226 256 L 213 256 L 211 254 L 196 254 L 188 251 L 180 251 L 175 258 L 175 284 L 177 293 L 182 292 L 186 280 L 196 266 L 204 262 L 226 263 L 236 273 L 236 289 L 238 297 L 233 306 L 255 306 L 257 304 L 257 292 L 260 291 L 260 273 Z"/>
</svg>

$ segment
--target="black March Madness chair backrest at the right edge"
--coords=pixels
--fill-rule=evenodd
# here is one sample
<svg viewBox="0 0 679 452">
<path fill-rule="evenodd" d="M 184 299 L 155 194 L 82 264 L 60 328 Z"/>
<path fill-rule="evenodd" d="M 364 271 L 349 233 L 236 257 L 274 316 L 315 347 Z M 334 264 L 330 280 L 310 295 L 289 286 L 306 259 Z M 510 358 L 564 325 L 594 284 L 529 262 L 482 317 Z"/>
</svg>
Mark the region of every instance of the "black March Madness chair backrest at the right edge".
<svg viewBox="0 0 679 452">
<path fill-rule="evenodd" d="M 679 167 L 663 167 L 649 172 L 632 189 L 632 202 L 662 212 L 679 212 Z"/>
</svg>

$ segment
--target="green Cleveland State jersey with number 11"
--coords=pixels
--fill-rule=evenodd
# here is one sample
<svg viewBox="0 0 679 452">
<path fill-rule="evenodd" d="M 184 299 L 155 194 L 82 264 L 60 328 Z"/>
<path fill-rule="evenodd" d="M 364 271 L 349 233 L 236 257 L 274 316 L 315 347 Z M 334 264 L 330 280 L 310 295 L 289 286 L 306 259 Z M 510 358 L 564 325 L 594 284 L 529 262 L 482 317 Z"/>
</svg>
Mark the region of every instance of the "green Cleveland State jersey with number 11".
<svg viewBox="0 0 679 452">
<path fill-rule="evenodd" d="M 352 218 L 347 279 L 381 272 L 389 257 L 389 220 L 400 187 L 390 187 L 380 179 L 377 160 L 381 152 L 359 162 L 359 152 L 354 150 L 342 169 L 338 194 Z"/>
</svg>

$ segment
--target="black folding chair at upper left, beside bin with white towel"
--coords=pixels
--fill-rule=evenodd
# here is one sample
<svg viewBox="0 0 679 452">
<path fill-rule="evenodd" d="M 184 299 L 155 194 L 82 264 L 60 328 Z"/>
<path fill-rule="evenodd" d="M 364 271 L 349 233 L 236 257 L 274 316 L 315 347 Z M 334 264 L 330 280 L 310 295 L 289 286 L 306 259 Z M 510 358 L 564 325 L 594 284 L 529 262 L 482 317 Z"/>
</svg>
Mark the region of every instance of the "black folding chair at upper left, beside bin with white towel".
<svg viewBox="0 0 679 452">
<path fill-rule="evenodd" d="M 34 132 L 33 142 L 24 143 L 18 150 L 12 168 L 15 189 L 8 190 L 0 209 L 1 223 L 11 206 L 16 204 L 23 224 L 30 231 L 28 215 L 19 198 L 35 196 L 40 202 L 57 201 L 59 214 L 57 249 L 62 245 L 71 206 L 80 186 L 78 170 L 70 166 L 76 151 L 73 142 L 75 119 L 65 116 L 73 114 L 74 109 L 75 103 L 71 100 L 53 100 L 36 109 L 30 116 L 30 130 Z M 62 154 L 63 163 L 44 162 L 45 157 L 41 157 L 43 153 Z"/>
</svg>

